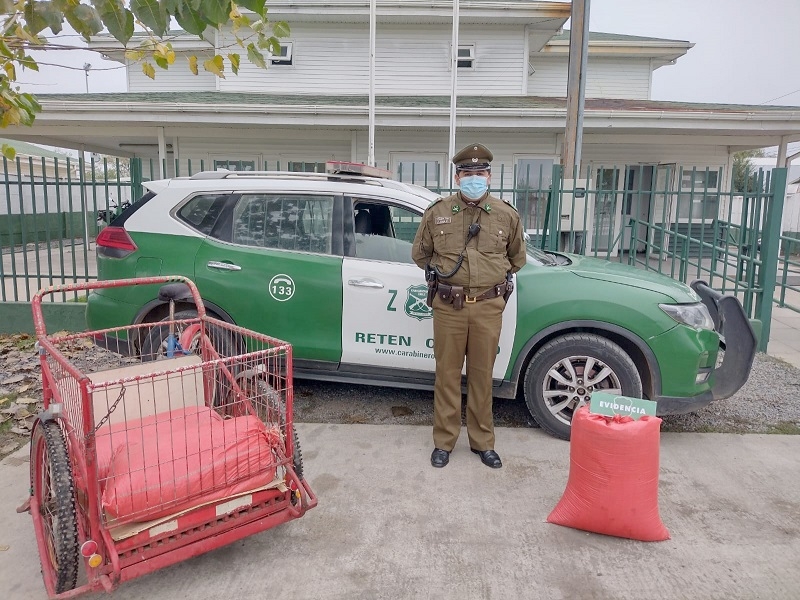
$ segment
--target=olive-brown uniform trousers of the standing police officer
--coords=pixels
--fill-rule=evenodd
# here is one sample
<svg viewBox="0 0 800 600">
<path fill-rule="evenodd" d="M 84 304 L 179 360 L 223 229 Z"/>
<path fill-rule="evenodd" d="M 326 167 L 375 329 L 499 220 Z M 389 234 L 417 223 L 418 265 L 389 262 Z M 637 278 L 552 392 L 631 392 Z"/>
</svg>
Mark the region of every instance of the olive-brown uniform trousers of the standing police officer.
<svg viewBox="0 0 800 600">
<path fill-rule="evenodd" d="M 494 450 L 492 369 L 497 357 L 505 300 L 465 303 L 456 310 L 433 300 L 433 444 L 453 450 L 461 431 L 461 370 L 467 359 L 467 434 L 470 448 Z"/>
</svg>

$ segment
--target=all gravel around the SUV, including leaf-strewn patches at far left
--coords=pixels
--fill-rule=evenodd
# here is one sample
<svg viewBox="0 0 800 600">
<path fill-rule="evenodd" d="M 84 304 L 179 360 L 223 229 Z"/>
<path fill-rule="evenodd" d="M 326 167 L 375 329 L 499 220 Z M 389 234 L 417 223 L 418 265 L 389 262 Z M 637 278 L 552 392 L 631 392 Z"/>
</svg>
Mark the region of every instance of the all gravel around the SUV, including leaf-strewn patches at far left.
<svg viewBox="0 0 800 600">
<path fill-rule="evenodd" d="M 112 368 L 119 357 L 89 340 L 72 343 L 78 368 Z M 113 363 L 113 364 L 112 364 Z M 41 376 L 33 338 L 0 336 L 0 458 L 26 443 L 42 409 Z M 295 381 L 295 419 L 306 423 L 433 424 L 430 391 Z M 496 399 L 495 424 L 536 427 L 522 400 Z M 800 369 L 756 356 L 747 384 L 727 400 L 694 413 L 663 418 L 662 431 L 800 434 Z"/>
</svg>

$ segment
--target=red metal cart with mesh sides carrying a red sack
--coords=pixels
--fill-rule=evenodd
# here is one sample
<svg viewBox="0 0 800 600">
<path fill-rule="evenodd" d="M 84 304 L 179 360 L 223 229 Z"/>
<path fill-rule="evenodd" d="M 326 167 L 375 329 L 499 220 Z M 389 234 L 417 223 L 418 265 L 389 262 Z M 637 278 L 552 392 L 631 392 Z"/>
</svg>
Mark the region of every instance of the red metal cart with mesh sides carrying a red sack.
<svg viewBox="0 0 800 600">
<path fill-rule="evenodd" d="M 164 286 L 170 316 L 47 333 L 45 295 L 130 285 Z M 175 319 L 175 298 L 189 294 L 197 316 Z M 29 510 L 50 597 L 111 591 L 316 506 L 288 343 L 208 317 L 183 277 L 48 288 L 33 315 L 45 410 L 31 433 Z M 150 356 L 95 343 L 141 348 L 154 336 L 167 343 Z"/>
</svg>

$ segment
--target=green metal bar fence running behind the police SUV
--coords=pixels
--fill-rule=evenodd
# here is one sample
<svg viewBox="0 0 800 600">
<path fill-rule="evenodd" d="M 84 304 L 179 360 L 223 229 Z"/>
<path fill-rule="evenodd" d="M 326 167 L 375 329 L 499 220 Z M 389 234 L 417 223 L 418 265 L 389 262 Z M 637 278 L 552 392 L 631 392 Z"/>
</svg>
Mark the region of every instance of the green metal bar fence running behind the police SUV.
<svg viewBox="0 0 800 600">
<path fill-rule="evenodd" d="M 142 183 L 224 166 L 215 161 L 8 161 L 0 173 L 0 301 L 29 301 L 41 287 L 96 277 L 93 241 Z M 324 170 L 324 163 L 273 163 L 273 170 Z M 491 192 L 513 203 L 527 234 L 547 250 L 585 254 L 654 270 L 684 282 L 703 279 L 737 295 L 763 324 L 766 349 L 774 299 L 792 307 L 800 294 L 800 240 L 781 235 L 786 170 L 758 172 L 743 194 L 725 192 L 721 169 L 675 165 L 586 165 L 566 180 L 558 165 L 492 173 Z M 394 174 L 453 192 L 426 164 Z M 800 237 L 800 235 L 797 235 Z M 800 296 L 798 296 L 800 298 Z M 61 298 L 58 300 L 76 300 Z"/>
</svg>

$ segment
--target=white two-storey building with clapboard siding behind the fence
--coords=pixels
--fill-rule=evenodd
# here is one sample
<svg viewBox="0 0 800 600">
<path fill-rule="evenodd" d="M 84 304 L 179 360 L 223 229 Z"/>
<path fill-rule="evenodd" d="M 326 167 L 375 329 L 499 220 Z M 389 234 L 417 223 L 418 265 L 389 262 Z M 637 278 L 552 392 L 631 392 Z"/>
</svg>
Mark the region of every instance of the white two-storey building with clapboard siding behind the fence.
<svg viewBox="0 0 800 600">
<path fill-rule="evenodd" d="M 128 91 L 39 95 L 44 111 L 34 126 L 8 133 L 149 159 L 153 176 L 197 171 L 201 161 L 206 169 L 252 170 L 366 162 L 369 5 L 271 0 L 270 18 L 292 29 L 281 56 L 263 70 L 241 52 L 239 74 L 224 79 L 192 75 L 185 57 L 197 55 L 202 63 L 226 54 L 230 31 L 208 42 L 178 35 L 178 60 L 155 80 L 128 63 L 116 42 L 100 37 L 90 46 L 128 66 Z M 413 169 L 413 178 L 431 187 L 449 187 L 452 7 L 377 1 L 376 164 L 406 181 Z M 495 186 L 501 179 L 504 188 L 550 185 L 564 140 L 569 35 L 562 27 L 569 16 L 568 2 L 460 2 L 456 147 L 480 141 L 491 148 Z M 590 35 L 581 167 L 590 186 L 623 192 L 700 186 L 705 197 L 727 191 L 736 151 L 778 146 L 785 154 L 789 142 L 800 140 L 800 107 L 651 100 L 653 72 L 692 46 Z M 618 196 L 597 196 L 597 218 L 614 229 L 637 210 Z M 639 207 L 639 217 L 665 212 L 653 198 Z M 666 212 L 706 210 L 682 208 Z"/>
</svg>

